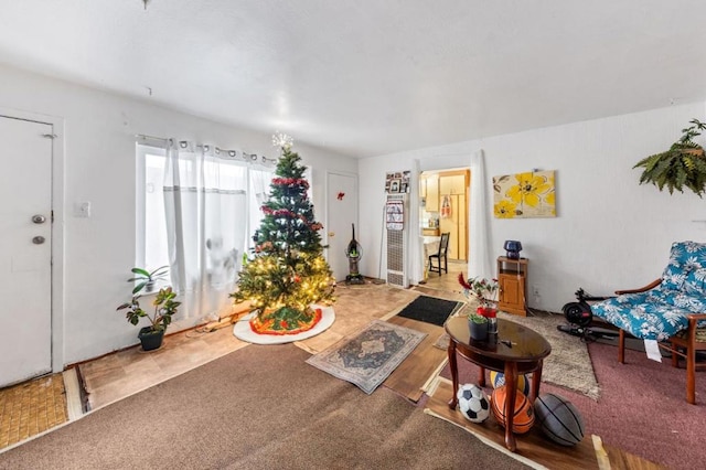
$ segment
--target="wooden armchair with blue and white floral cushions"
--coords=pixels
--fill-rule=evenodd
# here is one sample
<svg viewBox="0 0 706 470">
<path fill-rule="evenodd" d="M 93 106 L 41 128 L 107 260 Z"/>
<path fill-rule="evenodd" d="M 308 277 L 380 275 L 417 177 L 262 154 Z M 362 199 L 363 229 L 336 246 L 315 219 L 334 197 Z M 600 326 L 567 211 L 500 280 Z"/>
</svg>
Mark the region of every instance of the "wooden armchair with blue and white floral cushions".
<svg viewBox="0 0 706 470">
<path fill-rule="evenodd" d="M 706 244 L 672 244 L 662 277 L 591 306 L 593 314 L 620 328 L 618 361 L 624 363 L 624 334 L 656 340 L 672 352 L 672 365 L 686 360 L 686 400 L 696 403 L 696 351 L 706 350 Z M 700 341 L 699 341 L 700 340 Z M 706 365 L 706 364 L 704 364 Z"/>
</svg>

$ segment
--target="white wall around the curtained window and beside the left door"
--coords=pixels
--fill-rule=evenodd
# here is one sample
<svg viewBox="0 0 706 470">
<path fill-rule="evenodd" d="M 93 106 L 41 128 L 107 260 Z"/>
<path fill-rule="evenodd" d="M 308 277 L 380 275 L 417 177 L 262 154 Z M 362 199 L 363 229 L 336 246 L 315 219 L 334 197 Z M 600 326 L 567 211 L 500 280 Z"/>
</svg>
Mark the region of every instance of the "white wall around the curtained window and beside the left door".
<svg viewBox="0 0 706 470">
<path fill-rule="evenodd" d="M 277 157 L 271 135 L 248 131 L 139 102 L 0 66 L 0 109 L 62 118 L 65 177 L 63 220 L 63 364 L 137 343 L 137 329 L 115 308 L 129 298 L 126 282 L 135 265 L 135 135 L 176 137 Z M 275 129 L 272 129 L 275 130 Z M 295 136 L 296 138 L 296 136 Z M 313 170 L 317 217 L 323 221 L 327 170 L 357 172 L 355 159 L 298 145 Z M 3 162 L 4 168 L 11 162 Z M 90 201 L 92 217 L 73 206 Z M 55 202 L 61 204 L 61 202 Z M 61 249 L 61 247 L 54 247 Z M 61 325 L 60 325 L 61 328 Z M 11 332 L 0 332 L 1 335 Z"/>
</svg>

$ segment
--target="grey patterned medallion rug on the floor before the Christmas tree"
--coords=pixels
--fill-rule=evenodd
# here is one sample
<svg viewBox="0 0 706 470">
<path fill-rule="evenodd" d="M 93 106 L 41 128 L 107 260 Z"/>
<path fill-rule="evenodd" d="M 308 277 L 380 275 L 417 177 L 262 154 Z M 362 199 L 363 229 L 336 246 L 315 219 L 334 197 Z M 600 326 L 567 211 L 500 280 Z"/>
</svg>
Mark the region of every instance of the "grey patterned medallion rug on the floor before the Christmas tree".
<svg viewBox="0 0 706 470">
<path fill-rule="evenodd" d="M 426 335 L 374 320 L 355 337 L 312 355 L 307 363 L 372 394 Z"/>
</svg>

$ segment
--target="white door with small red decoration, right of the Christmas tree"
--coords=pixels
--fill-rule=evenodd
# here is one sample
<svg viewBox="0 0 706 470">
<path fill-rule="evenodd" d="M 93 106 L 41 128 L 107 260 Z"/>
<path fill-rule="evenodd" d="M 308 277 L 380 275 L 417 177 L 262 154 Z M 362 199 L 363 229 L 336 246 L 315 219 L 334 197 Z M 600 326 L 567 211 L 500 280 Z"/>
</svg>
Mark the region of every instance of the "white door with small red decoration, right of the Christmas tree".
<svg viewBox="0 0 706 470">
<path fill-rule="evenodd" d="M 323 227 L 327 234 L 327 260 L 333 276 L 338 281 L 345 280 L 349 271 L 349 259 L 345 256 L 345 248 L 353 237 L 355 224 L 355 239 L 360 243 L 360 231 L 357 226 L 357 178 L 352 174 L 327 173 L 327 226 Z M 365 256 L 365 247 L 363 247 Z"/>
</svg>

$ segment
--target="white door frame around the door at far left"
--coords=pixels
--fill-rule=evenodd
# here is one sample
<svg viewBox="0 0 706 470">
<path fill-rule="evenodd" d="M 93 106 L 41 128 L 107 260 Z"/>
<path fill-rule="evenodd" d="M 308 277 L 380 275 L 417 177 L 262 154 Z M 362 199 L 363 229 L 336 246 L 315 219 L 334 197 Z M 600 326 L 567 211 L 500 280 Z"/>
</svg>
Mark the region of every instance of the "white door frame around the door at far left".
<svg viewBox="0 0 706 470">
<path fill-rule="evenodd" d="M 52 126 L 52 255 L 51 255 L 51 328 L 52 372 L 64 370 L 64 118 L 0 107 L 0 116 Z"/>
</svg>

